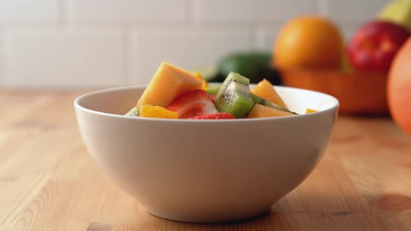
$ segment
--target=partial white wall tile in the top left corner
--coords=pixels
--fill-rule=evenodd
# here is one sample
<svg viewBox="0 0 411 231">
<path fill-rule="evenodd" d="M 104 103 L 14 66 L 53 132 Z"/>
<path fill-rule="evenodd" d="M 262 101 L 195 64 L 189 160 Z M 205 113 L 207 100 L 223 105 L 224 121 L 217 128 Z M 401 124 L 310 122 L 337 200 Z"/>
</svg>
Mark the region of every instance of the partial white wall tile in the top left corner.
<svg viewBox="0 0 411 231">
<path fill-rule="evenodd" d="M 20 23 L 56 23 L 59 1 L 0 0 L 0 26 Z"/>
</svg>

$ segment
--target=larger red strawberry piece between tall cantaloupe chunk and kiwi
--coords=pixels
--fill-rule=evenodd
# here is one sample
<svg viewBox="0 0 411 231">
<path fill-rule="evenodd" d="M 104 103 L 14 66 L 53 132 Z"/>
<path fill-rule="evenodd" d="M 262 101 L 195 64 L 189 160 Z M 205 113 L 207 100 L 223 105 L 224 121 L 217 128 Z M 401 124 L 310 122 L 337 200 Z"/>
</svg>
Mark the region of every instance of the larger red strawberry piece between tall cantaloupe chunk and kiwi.
<svg viewBox="0 0 411 231">
<path fill-rule="evenodd" d="M 181 119 L 218 113 L 206 91 L 200 89 L 178 95 L 167 109 L 178 113 Z"/>
</svg>

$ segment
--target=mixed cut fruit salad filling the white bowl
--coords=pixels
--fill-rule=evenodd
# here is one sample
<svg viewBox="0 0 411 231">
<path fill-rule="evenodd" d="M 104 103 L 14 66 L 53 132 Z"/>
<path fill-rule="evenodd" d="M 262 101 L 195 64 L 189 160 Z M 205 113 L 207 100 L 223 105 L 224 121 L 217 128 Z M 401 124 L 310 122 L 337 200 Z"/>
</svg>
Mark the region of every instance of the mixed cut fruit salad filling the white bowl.
<svg viewBox="0 0 411 231">
<path fill-rule="evenodd" d="M 249 79 L 230 72 L 220 85 L 208 86 L 199 73 L 161 63 L 137 106 L 126 116 L 189 120 L 226 120 L 295 116 L 272 84 L 263 80 L 252 90 Z M 315 112 L 314 110 L 307 113 Z"/>
</svg>

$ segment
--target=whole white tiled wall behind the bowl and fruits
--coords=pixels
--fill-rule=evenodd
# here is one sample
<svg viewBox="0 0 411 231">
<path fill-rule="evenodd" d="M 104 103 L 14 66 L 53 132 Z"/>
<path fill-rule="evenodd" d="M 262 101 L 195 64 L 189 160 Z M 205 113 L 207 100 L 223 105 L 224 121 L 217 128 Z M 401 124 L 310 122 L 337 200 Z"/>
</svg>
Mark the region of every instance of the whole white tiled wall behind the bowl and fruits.
<svg viewBox="0 0 411 231">
<path fill-rule="evenodd" d="M 288 19 L 324 15 L 350 38 L 387 0 L 0 0 L 0 88 L 148 83 L 161 61 L 208 70 L 272 52 Z"/>
</svg>

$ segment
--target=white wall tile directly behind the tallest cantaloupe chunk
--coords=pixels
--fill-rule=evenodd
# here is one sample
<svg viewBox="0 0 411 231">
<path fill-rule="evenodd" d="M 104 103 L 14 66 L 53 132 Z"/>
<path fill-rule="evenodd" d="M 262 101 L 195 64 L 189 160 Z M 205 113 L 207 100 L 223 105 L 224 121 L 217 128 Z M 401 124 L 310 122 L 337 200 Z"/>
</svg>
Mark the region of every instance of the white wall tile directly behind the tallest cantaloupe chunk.
<svg viewBox="0 0 411 231">
<path fill-rule="evenodd" d="M 164 30 L 135 32 L 130 38 L 130 79 L 148 83 L 158 65 L 167 61 L 189 69 L 214 65 L 231 51 L 249 49 L 248 31 Z"/>
</svg>

